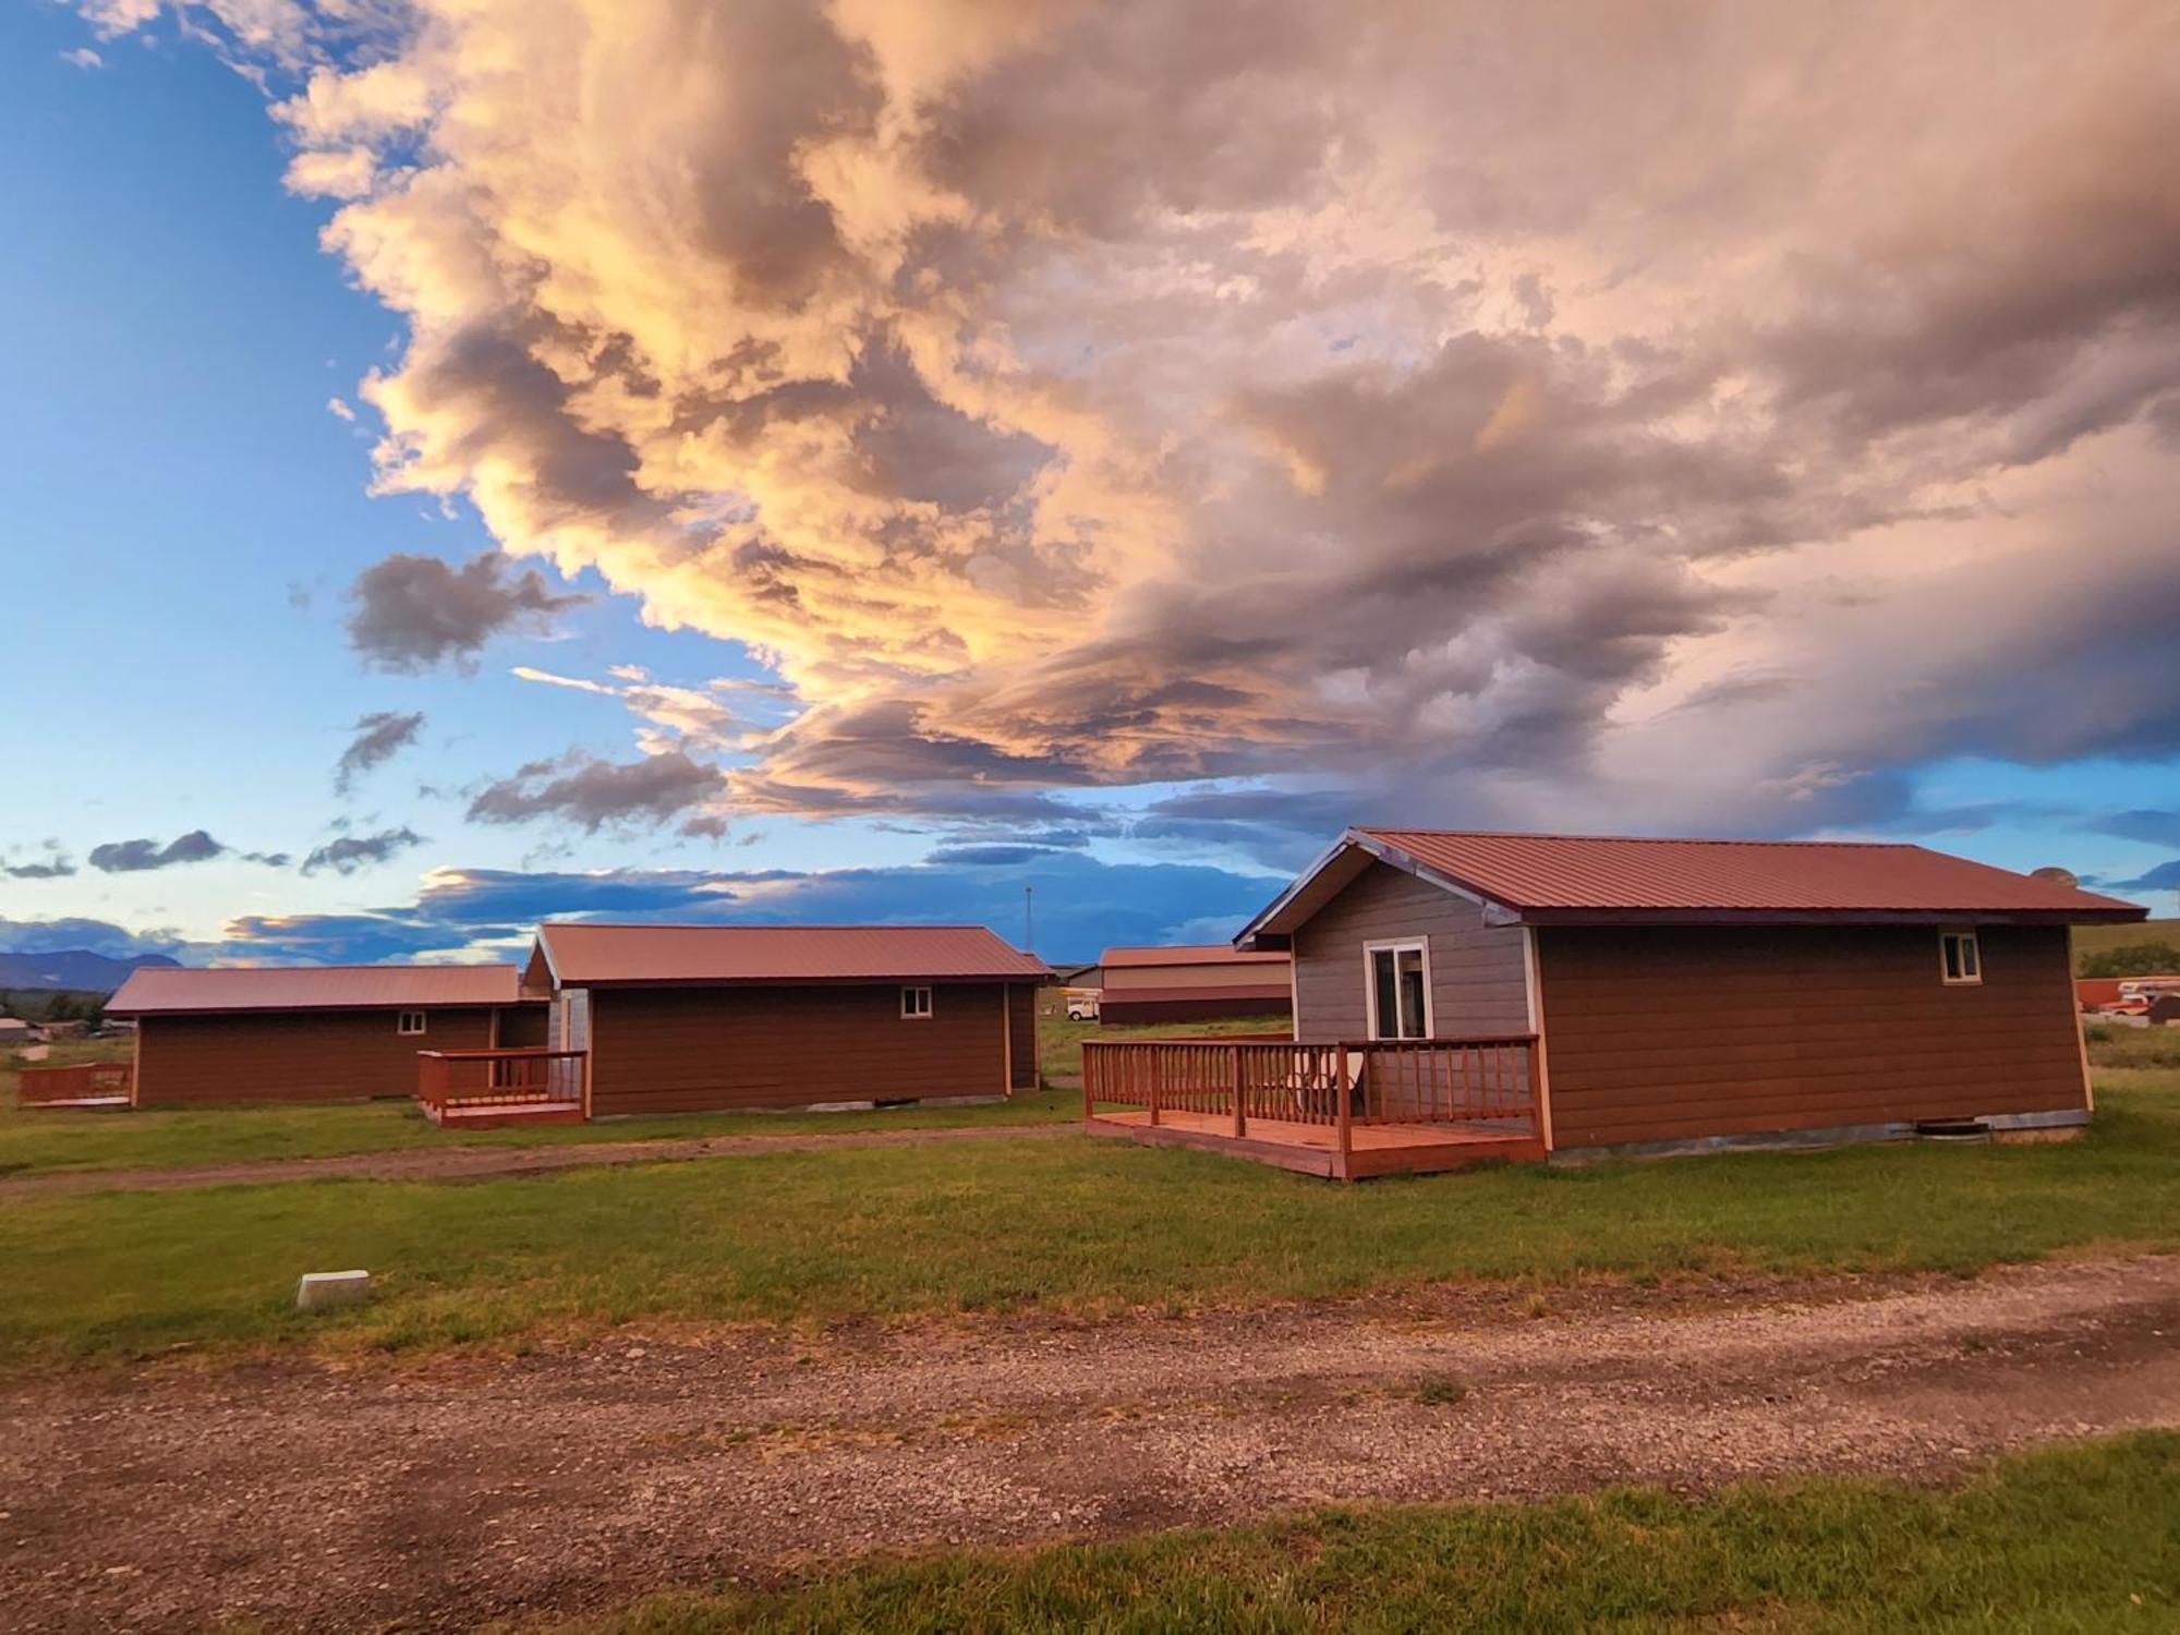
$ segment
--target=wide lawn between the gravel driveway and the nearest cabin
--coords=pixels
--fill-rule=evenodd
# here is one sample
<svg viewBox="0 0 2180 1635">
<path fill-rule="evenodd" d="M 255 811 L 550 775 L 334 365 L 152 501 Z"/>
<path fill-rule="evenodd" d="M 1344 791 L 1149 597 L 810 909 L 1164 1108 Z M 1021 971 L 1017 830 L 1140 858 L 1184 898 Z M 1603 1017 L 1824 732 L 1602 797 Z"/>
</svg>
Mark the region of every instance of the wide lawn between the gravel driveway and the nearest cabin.
<svg viewBox="0 0 2180 1635">
<path fill-rule="evenodd" d="M 2180 1075 L 2115 1073 L 2088 1138 L 1849 1147 L 1332 1186 L 1092 1136 L 432 1186 L 290 1182 L 0 1208 L 0 1367 L 427 1349 L 628 1321 L 1186 1310 L 1441 1280 L 1975 1271 L 2180 1249 Z M 290 1310 L 366 1267 L 358 1312 Z"/>
</svg>

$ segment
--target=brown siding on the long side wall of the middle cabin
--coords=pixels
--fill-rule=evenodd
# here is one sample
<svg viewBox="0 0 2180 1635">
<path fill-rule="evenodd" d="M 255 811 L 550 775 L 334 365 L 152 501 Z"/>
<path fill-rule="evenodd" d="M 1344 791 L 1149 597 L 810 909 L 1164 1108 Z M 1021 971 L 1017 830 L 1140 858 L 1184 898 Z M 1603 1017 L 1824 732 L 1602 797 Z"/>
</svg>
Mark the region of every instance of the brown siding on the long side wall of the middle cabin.
<svg viewBox="0 0 2180 1635">
<path fill-rule="evenodd" d="M 927 1018 L 900 983 L 593 988 L 591 1112 L 996 1097 L 1005 1003 L 1001 983 L 933 985 Z"/>
</svg>

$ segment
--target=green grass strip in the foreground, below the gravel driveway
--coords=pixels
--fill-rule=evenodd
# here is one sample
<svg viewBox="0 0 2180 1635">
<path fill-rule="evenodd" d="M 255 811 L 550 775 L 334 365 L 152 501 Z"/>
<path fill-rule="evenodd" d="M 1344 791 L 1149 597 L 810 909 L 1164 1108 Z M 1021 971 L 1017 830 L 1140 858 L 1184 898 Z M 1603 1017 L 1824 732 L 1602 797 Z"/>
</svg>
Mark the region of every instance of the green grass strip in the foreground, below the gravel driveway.
<svg viewBox="0 0 2180 1635">
<path fill-rule="evenodd" d="M 2180 1437 L 2008 1458 L 1951 1491 L 1879 1480 L 1615 1489 L 1543 1504 L 1317 1511 L 1219 1533 L 872 1561 L 770 1591 L 562 1624 L 759 1631 L 2169 1631 Z"/>
</svg>

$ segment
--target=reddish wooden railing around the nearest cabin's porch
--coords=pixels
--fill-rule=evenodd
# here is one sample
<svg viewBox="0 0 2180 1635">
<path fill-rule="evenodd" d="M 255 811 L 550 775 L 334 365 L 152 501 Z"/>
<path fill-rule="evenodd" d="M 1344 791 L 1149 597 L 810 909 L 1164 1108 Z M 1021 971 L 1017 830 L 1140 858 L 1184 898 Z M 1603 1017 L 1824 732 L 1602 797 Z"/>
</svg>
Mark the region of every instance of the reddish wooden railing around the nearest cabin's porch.
<svg viewBox="0 0 2180 1635">
<path fill-rule="evenodd" d="M 1083 1118 L 1099 1103 L 1230 1121 L 1491 1125 L 1535 1134 L 1535 1033 L 1485 1040 L 1086 1040 Z"/>
</svg>

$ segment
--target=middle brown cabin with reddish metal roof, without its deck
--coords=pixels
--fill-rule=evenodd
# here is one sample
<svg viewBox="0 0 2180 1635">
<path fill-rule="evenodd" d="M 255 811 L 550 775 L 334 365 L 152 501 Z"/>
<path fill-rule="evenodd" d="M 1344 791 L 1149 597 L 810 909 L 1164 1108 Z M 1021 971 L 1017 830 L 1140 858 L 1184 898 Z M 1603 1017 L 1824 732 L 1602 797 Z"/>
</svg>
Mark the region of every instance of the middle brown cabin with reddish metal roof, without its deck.
<svg viewBox="0 0 2180 1635">
<path fill-rule="evenodd" d="M 983 927 L 545 924 L 523 990 L 593 1116 L 1001 1099 L 1051 972 Z"/>
</svg>

